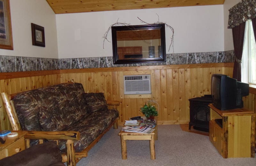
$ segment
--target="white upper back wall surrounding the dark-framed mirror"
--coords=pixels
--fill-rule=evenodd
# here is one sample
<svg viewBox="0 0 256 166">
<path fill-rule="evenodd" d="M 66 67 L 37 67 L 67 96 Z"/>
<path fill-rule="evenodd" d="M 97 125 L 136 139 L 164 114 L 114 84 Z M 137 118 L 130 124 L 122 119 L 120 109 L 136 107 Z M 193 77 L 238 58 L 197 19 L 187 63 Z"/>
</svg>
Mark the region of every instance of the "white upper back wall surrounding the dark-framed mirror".
<svg viewBox="0 0 256 166">
<path fill-rule="evenodd" d="M 101 11 L 57 14 L 59 58 L 113 56 L 112 42 L 103 35 L 108 27 L 119 22 L 143 25 L 137 17 L 154 23 L 158 20 L 174 28 L 174 53 L 224 51 L 223 5 Z M 166 53 L 171 30 L 166 28 Z M 112 41 L 111 31 L 108 40 Z"/>
</svg>

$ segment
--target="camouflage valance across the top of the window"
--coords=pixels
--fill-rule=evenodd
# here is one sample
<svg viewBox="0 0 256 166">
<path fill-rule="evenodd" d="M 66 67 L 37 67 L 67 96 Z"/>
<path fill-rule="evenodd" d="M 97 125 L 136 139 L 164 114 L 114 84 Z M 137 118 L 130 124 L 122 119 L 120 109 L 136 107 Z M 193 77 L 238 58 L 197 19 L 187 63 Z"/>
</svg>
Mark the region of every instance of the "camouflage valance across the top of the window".
<svg viewBox="0 0 256 166">
<path fill-rule="evenodd" d="M 229 9 L 228 28 L 233 28 L 239 24 L 254 19 L 256 17 L 256 0 L 242 0 Z"/>
</svg>

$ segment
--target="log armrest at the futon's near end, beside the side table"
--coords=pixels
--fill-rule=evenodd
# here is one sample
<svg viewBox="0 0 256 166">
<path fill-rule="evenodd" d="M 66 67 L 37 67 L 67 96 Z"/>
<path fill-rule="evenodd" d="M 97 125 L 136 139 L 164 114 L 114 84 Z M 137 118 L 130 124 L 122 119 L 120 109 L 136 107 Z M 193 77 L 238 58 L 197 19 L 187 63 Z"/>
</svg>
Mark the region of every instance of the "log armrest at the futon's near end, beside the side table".
<svg viewBox="0 0 256 166">
<path fill-rule="evenodd" d="M 59 132 L 39 132 L 27 131 L 24 136 L 26 139 L 34 140 L 79 140 L 80 132 L 75 131 L 59 131 Z"/>
</svg>

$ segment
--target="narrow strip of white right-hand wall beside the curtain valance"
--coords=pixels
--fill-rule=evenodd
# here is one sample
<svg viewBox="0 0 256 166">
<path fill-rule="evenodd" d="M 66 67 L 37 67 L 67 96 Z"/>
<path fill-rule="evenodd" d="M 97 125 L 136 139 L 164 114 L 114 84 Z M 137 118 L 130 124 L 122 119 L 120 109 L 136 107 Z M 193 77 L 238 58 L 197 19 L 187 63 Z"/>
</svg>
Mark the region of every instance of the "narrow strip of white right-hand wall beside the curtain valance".
<svg viewBox="0 0 256 166">
<path fill-rule="evenodd" d="M 225 0 L 224 5 L 223 5 L 223 9 L 224 9 L 224 49 L 225 49 L 225 51 L 234 49 L 232 29 L 228 29 L 228 15 L 229 15 L 228 10 L 241 1 L 242 0 Z"/>
</svg>

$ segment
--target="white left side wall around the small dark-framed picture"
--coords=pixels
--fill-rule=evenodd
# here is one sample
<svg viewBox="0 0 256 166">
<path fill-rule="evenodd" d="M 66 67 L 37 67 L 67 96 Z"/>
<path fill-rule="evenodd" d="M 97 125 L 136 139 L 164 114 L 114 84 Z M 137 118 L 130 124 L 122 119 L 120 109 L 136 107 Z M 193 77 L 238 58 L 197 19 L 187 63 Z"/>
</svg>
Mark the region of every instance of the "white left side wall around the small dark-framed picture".
<svg viewBox="0 0 256 166">
<path fill-rule="evenodd" d="M 13 50 L 0 55 L 58 58 L 56 17 L 46 0 L 10 0 Z M 32 45 L 31 23 L 44 27 L 45 48 Z"/>
</svg>

